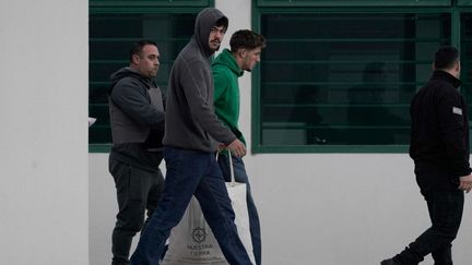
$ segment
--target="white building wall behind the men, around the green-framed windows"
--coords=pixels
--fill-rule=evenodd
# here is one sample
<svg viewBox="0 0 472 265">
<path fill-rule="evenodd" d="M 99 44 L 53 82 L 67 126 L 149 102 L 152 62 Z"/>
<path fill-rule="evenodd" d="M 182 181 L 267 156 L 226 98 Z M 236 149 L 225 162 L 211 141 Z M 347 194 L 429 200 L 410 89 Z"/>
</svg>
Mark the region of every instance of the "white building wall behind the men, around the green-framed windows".
<svg viewBox="0 0 472 265">
<path fill-rule="evenodd" d="M 233 32 L 250 28 L 250 0 L 215 0 Z M 165 51 L 162 51 L 165 52 Z M 250 75 L 239 80 L 250 143 Z M 429 225 L 406 154 L 258 154 L 245 158 L 262 221 L 263 264 L 379 264 Z M 109 261 L 116 206 L 107 154 L 90 154 L 91 265 Z M 470 263 L 472 195 L 453 252 Z M 424 263 L 432 265 L 428 257 Z"/>
</svg>

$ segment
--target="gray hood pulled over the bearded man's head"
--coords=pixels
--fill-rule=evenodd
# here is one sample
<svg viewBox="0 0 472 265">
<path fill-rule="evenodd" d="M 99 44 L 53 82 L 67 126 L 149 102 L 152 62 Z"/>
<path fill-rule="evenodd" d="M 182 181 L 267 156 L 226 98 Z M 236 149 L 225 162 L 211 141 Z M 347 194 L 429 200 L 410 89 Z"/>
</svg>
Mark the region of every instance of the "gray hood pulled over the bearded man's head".
<svg viewBox="0 0 472 265">
<path fill-rule="evenodd" d="M 210 31 L 220 20 L 223 20 L 223 25 L 227 28 L 228 19 L 220 10 L 214 8 L 203 9 L 196 19 L 192 38 L 197 41 L 200 49 L 209 57 L 214 53 L 209 46 Z"/>
</svg>

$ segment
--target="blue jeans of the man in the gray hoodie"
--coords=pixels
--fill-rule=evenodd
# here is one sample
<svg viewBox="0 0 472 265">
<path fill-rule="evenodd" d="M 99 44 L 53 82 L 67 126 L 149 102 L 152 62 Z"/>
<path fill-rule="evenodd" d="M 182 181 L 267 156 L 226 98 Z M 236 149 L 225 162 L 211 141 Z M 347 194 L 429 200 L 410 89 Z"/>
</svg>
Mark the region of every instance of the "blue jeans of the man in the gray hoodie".
<svg viewBox="0 0 472 265">
<path fill-rule="evenodd" d="M 237 234 L 235 215 L 214 154 L 165 147 L 164 159 L 167 167 L 164 192 L 131 264 L 158 264 L 170 229 L 178 225 L 194 195 L 227 262 L 252 265 Z"/>
</svg>

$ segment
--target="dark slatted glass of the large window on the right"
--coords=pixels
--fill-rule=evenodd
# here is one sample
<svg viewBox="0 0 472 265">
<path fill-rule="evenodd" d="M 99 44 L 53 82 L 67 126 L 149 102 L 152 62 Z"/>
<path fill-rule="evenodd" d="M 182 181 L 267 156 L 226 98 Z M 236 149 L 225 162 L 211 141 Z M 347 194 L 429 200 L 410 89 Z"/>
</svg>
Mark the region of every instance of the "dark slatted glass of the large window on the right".
<svg viewBox="0 0 472 265">
<path fill-rule="evenodd" d="M 261 145 L 404 145 L 449 14 L 263 14 Z"/>
</svg>

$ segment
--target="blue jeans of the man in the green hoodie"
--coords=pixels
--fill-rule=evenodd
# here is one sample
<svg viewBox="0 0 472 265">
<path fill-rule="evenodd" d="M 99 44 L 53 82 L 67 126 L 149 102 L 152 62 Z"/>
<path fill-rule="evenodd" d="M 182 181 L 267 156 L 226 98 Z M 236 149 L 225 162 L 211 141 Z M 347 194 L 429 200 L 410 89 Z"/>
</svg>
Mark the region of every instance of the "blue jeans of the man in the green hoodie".
<svg viewBox="0 0 472 265">
<path fill-rule="evenodd" d="M 252 252 L 256 258 L 256 264 L 261 264 L 261 232 L 260 232 L 260 221 L 259 221 L 259 214 L 256 208 L 256 204 L 252 198 L 252 194 L 250 191 L 250 184 L 249 184 L 249 178 L 246 173 L 245 164 L 241 158 L 239 157 L 232 157 L 233 158 L 233 168 L 235 173 L 235 180 L 236 182 L 246 183 L 247 186 L 247 206 L 248 206 L 248 214 L 249 214 L 249 228 L 251 233 L 251 241 L 252 241 Z M 231 181 L 231 173 L 229 173 L 229 159 L 226 155 L 221 155 L 219 158 L 220 168 L 223 172 L 223 176 L 226 181 Z"/>
</svg>

